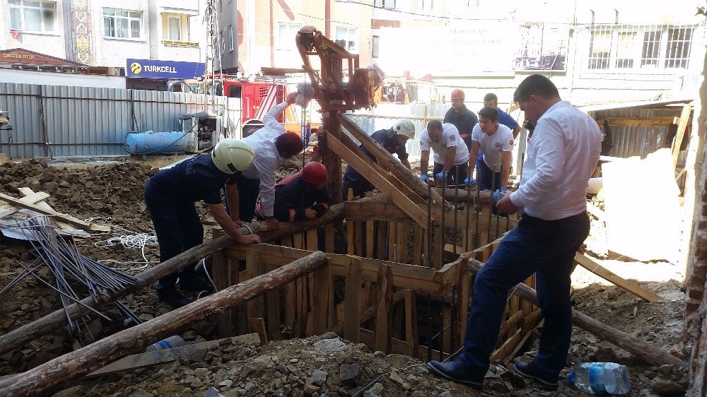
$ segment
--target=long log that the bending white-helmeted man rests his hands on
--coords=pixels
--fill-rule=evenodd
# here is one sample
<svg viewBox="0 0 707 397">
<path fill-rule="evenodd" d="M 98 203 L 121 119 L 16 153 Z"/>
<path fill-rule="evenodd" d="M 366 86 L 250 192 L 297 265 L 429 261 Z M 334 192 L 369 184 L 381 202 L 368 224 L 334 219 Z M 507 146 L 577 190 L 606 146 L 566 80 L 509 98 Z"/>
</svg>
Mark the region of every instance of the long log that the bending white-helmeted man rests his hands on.
<svg viewBox="0 0 707 397">
<path fill-rule="evenodd" d="M 376 195 L 373 196 L 371 199 L 380 200 L 380 196 Z M 361 201 L 366 201 L 366 199 L 364 198 Z M 320 227 L 322 225 L 326 225 L 327 223 L 331 223 L 334 220 L 342 218 L 343 216 L 344 205 L 337 204 L 329 208 L 329 211 L 327 211 L 327 213 L 322 215 L 320 218 L 307 220 L 305 222 L 280 223 L 280 228 L 276 232 L 269 231 L 260 233 L 262 230 L 267 230 L 267 226 L 265 226 L 264 223 L 255 223 L 255 229 L 252 231 L 259 233 L 260 238 L 263 242 L 268 242 L 274 239 L 293 235 L 294 233 L 301 232 L 302 230 L 310 230 L 313 228 Z M 254 228 L 254 225 L 250 225 L 251 229 Z M 240 231 L 246 235 L 250 234 L 250 230 L 248 230 L 247 227 L 241 227 Z M 119 291 L 111 295 L 110 297 L 102 295 L 98 302 L 94 302 L 92 297 L 87 297 L 86 299 L 81 300 L 81 303 L 89 307 L 95 308 L 100 307 L 101 305 L 107 304 L 109 302 L 114 302 L 115 300 L 118 300 L 119 298 L 124 297 L 125 295 L 129 295 L 132 292 L 147 287 L 148 285 L 152 285 L 160 278 L 163 278 L 165 275 L 175 273 L 181 268 L 185 268 L 190 263 L 194 263 L 201 259 L 204 259 L 206 258 L 206 256 L 214 254 L 214 252 L 218 251 L 219 249 L 233 246 L 233 244 L 237 243 L 228 235 L 223 235 L 216 239 L 212 239 L 211 241 L 205 242 L 204 244 L 198 245 L 197 247 L 194 247 L 192 249 L 188 249 L 187 251 L 182 252 L 182 254 L 179 254 L 174 258 L 168 259 L 167 261 L 159 263 L 157 266 L 140 273 L 139 275 L 137 275 L 137 278 L 139 278 L 141 281 L 134 286 L 125 288 L 124 290 Z M 87 314 L 88 312 L 88 309 L 81 307 L 81 305 L 72 304 L 71 306 L 66 308 L 66 312 L 64 312 L 64 309 L 57 309 L 54 312 L 42 317 L 41 319 L 37 319 L 36 321 L 31 322 L 30 324 L 25 324 L 19 328 L 14 329 L 13 331 L 5 333 L 4 335 L 0 336 L 0 355 L 20 347 L 21 345 L 23 345 L 23 343 L 38 338 L 44 335 L 45 333 L 49 333 L 51 331 L 54 331 L 54 329 L 66 325 L 66 315 L 70 316 L 72 319 L 76 319 L 79 316 Z"/>
</svg>

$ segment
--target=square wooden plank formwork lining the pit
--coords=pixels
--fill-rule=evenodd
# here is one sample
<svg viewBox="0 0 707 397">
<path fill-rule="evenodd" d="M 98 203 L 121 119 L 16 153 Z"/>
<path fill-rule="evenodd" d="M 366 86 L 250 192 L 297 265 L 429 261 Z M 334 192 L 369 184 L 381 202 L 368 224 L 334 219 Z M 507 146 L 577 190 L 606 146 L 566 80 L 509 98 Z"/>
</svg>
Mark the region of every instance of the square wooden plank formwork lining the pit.
<svg viewBox="0 0 707 397">
<path fill-rule="evenodd" d="M 500 237 L 517 221 L 497 220 L 488 215 L 489 208 L 485 213 L 482 208 L 481 213 L 468 214 L 467 227 L 465 211 L 440 213 L 433 208 L 434 218 L 445 222 L 431 222 L 433 227 L 428 231 L 389 201 L 349 201 L 344 205 L 345 223 L 339 233 L 346 236 L 346 244 L 338 253 L 334 247 L 337 230 L 332 223 L 285 237 L 278 245 L 234 245 L 214 254 L 218 289 L 267 273 L 312 251 L 324 251 L 328 258 L 327 266 L 319 271 L 221 314 L 221 336 L 265 331 L 272 340 L 334 331 L 371 349 L 421 360 L 456 352 L 464 340 L 472 300 L 472 275 L 466 261 L 488 259 L 500 238 L 463 254 L 460 250 L 486 243 L 491 235 Z M 453 232 L 455 225 L 457 232 Z M 476 225 L 478 230 L 474 230 Z M 445 244 L 451 241 L 450 235 L 458 236 L 451 247 Z M 455 250 L 460 255 L 452 254 Z M 444 260 L 450 258 L 455 260 Z M 533 278 L 526 283 L 534 287 Z M 343 297 L 334 295 L 335 284 L 337 290 L 343 289 Z M 419 327 L 429 326 L 428 319 L 418 319 L 419 297 L 440 307 L 436 314 L 440 332 L 432 342 L 429 335 L 423 340 L 427 346 L 419 340 Z M 539 310 L 514 296 L 508 300 L 503 319 L 498 348 L 491 357 L 498 362 L 514 353 L 537 326 Z"/>
</svg>

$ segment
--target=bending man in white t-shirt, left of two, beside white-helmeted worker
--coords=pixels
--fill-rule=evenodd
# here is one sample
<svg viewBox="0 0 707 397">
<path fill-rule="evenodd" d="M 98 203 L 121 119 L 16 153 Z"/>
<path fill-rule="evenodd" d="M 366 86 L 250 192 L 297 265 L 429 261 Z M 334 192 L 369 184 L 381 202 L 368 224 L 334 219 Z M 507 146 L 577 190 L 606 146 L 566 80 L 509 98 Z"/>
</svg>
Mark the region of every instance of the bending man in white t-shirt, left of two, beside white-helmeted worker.
<svg viewBox="0 0 707 397">
<path fill-rule="evenodd" d="M 420 136 L 420 179 L 427 182 L 430 149 L 434 150 L 434 179 L 448 185 L 457 184 L 467 177 L 469 171 L 469 149 L 462 141 L 454 124 L 432 120 Z"/>
</svg>

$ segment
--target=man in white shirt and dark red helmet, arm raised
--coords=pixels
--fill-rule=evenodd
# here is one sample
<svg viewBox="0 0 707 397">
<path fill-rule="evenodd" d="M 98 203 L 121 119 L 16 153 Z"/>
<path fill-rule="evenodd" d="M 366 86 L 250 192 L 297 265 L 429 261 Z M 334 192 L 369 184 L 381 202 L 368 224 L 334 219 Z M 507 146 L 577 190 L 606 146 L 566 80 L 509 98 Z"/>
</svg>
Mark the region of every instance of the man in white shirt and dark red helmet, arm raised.
<svg viewBox="0 0 707 397">
<path fill-rule="evenodd" d="M 287 95 L 287 100 L 270 109 L 263 117 L 264 126 L 254 134 L 243 138 L 255 151 L 253 165 L 243 171 L 236 182 L 238 186 L 238 211 L 233 209 L 230 216 L 241 225 L 250 222 L 255 213 L 258 193 L 260 205 L 263 208 L 265 222 L 271 229 L 279 226 L 274 217 L 275 202 L 275 169 L 282 160 L 291 158 L 302 151 L 302 138 L 285 128 L 277 121 L 277 117 L 295 103 L 297 93 Z"/>
</svg>

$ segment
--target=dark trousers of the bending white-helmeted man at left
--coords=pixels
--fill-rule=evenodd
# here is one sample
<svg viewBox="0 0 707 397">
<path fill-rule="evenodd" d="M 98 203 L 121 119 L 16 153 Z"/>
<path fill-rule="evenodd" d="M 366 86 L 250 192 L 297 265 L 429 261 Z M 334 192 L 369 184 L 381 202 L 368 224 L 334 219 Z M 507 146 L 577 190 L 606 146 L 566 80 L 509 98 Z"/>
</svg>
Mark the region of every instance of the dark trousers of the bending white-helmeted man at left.
<svg viewBox="0 0 707 397">
<path fill-rule="evenodd" d="M 146 188 L 145 204 L 152 215 L 152 223 L 155 225 L 157 241 L 160 244 L 160 262 L 204 242 L 204 226 L 201 225 L 194 203 L 177 203 L 151 196 L 149 188 Z M 175 288 L 177 278 L 183 280 L 193 276 L 194 264 L 178 273 L 160 278 L 157 289 Z"/>
</svg>

